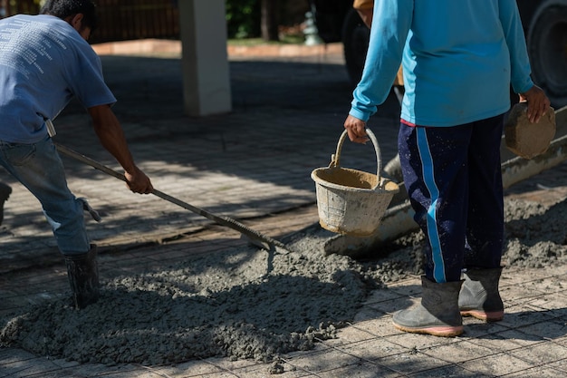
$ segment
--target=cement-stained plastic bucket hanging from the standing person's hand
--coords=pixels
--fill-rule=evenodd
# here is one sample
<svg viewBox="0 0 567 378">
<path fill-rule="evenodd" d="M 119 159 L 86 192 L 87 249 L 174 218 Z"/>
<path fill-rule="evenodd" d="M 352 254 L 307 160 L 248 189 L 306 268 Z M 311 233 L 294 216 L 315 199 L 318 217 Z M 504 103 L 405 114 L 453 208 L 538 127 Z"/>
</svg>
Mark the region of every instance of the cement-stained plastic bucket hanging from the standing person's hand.
<svg viewBox="0 0 567 378">
<path fill-rule="evenodd" d="M 380 226 L 389 202 L 399 191 L 395 182 L 380 178 L 380 148 L 374 133 L 366 130 L 376 150 L 376 174 L 341 168 L 343 131 L 329 167 L 312 171 L 317 191 L 319 224 L 329 231 L 355 237 L 372 235 Z"/>
</svg>

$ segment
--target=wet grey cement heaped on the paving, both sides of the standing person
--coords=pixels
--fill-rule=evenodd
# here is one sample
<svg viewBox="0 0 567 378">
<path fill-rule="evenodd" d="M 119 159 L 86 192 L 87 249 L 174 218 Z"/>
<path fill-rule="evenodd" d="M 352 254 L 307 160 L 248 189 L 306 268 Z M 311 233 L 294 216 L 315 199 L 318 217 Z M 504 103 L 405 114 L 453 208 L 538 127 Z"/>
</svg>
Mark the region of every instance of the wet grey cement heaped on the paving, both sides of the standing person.
<svg viewBox="0 0 567 378">
<path fill-rule="evenodd" d="M 567 262 L 567 201 L 549 208 L 506 201 L 503 264 Z M 81 363 L 181 363 L 227 356 L 271 361 L 312 348 L 351 321 L 370 290 L 421 267 L 419 233 L 384 257 L 325 256 L 321 228 L 296 235 L 294 252 L 239 248 L 104 283 L 99 303 L 82 311 L 61 299 L 24 308 L 5 322 L 0 343 Z"/>
</svg>

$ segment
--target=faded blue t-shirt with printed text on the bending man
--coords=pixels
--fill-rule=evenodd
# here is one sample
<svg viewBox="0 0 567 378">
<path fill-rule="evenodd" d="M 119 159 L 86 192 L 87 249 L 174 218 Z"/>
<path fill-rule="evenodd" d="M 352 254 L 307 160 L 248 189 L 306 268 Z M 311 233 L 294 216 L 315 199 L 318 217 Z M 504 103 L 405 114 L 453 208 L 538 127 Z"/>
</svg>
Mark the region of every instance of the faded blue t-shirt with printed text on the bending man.
<svg viewBox="0 0 567 378">
<path fill-rule="evenodd" d="M 73 96 L 85 108 L 116 102 L 91 45 L 53 15 L 0 20 L 0 140 L 43 140 Z"/>
</svg>

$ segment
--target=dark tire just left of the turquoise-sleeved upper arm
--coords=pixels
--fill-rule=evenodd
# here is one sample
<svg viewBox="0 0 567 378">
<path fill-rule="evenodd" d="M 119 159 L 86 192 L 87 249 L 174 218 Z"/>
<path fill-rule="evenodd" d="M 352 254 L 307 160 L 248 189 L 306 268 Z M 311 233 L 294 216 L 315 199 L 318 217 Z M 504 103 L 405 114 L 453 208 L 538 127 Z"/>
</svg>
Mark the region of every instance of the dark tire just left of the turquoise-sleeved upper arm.
<svg viewBox="0 0 567 378">
<path fill-rule="evenodd" d="M 350 9 L 342 24 L 344 62 L 353 86 L 360 82 L 366 51 L 370 40 L 370 29 L 362 23 L 355 9 Z"/>
</svg>

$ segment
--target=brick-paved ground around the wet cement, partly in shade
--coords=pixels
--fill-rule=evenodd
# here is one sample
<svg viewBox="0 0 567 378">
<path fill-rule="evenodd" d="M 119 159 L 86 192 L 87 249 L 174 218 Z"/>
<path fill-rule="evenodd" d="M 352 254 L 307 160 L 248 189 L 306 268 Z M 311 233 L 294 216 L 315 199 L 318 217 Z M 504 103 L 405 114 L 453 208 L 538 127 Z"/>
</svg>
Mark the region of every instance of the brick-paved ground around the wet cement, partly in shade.
<svg viewBox="0 0 567 378">
<path fill-rule="evenodd" d="M 231 53 L 234 111 L 205 118 L 184 115 L 178 51 L 104 55 L 105 76 L 119 98 L 115 111 L 139 166 L 157 189 L 213 213 L 241 219 L 275 238 L 317 221 L 310 173 L 334 152 L 349 109 L 351 85 L 340 46 Z M 289 49 L 289 47 L 288 47 Z M 119 50 L 120 52 L 120 50 Z M 116 51 L 115 51 L 116 53 Z M 273 52 L 274 53 L 274 52 Z M 254 55 L 254 56 L 253 56 Z M 85 114 L 72 104 L 56 120 L 56 141 L 116 168 L 99 148 Z M 395 154 L 397 102 L 392 96 L 370 121 L 382 159 Z M 374 170 L 371 146 L 345 144 L 344 166 Z M 222 253 L 245 243 L 237 232 L 154 196 L 138 196 L 122 182 L 63 158 L 78 196 L 90 199 L 102 223 L 89 221 L 101 246 L 101 272 L 136 272 L 153 261 L 187 253 Z M 514 187 L 529 195 L 535 184 L 564 200 L 562 174 L 542 175 Z M 0 318 L 26 303 L 56 296 L 66 273 L 37 201 L 0 171 L 14 193 L 0 228 Z M 190 252 L 187 252 L 190 251 Z M 466 319 L 456 338 L 402 334 L 391 314 L 418 298 L 419 278 L 375 291 L 351 325 L 315 349 L 285 355 L 290 377 L 557 377 L 567 375 L 567 267 L 505 269 L 505 320 L 485 325 Z M 207 359 L 175 366 L 78 364 L 0 349 L 0 377 L 243 377 L 270 376 L 272 363 Z"/>
</svg>

